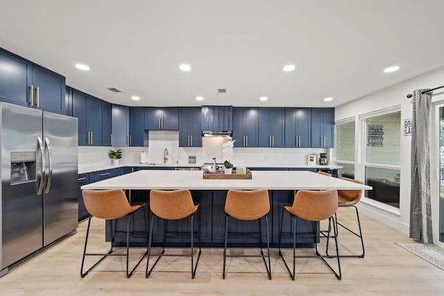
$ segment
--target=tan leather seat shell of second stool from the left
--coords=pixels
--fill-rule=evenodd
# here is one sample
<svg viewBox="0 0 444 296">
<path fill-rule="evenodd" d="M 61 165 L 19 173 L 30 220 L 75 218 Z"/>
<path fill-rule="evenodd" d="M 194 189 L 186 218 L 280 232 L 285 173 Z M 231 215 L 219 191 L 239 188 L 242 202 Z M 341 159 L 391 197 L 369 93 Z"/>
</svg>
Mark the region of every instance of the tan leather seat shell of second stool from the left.
<svg viewBox="0 0 444 296">
<path fill-rule="evenodd" d="M 196 206 L 188 189 L 151 190 L 150 209 L 160 218 L 178 220 L 193 214 Z"/>
</svg>

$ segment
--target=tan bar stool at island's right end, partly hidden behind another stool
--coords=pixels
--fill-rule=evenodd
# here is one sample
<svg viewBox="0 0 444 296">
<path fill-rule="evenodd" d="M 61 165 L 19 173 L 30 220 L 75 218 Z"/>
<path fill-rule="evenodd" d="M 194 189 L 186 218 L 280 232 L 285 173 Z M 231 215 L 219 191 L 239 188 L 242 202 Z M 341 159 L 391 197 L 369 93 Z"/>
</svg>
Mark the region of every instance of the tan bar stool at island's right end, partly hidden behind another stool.
<svg viewBox="0 0 444 296">
<path fill-rule="evenodd" d="M 364 184 L 364 182 L 359 180 L 353 180 L 348 177 L 341 177 L 342 180 L 355 182 L 357 184 Z M 358 258 L 364 258 L 365 250 L 364 250 L 364 239 L 362 238 L 362 230 L 361 230 L 361 221 L 359 220 L 359 212 L 358 208 L 356 207 L 356 204 L 361 200 L 362 197 L 362 191 L 361 190 L 338 190 L 338 207 L 354 207 L 356 210 L 356 217 L 358 221 L 358 227 L 359 227 L 359 234 L 352 231 L 350 228 L 346 227 L 345 225 L 338 222 L 336 216 L 336 232 L 338 231 L 337 225 L 347 229 L 352 234 L 355 234 L 355 236 L 361 238 L 361 246 L 362 246 L 362 253 L 361 254 L 352 254 L 352 255 L 341 255 L 341 257 L 358 257 Z"/>
</svg>

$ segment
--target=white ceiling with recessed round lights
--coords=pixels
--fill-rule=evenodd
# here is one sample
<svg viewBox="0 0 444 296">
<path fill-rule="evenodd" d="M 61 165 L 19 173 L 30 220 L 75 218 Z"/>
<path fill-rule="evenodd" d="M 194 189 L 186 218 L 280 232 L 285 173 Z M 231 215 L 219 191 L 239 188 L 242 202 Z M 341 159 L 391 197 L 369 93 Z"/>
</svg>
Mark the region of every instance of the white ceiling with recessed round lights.
<svg viewBox="0 0 444 296">
<path fill-rule="evenodd" d="M 0 47 L 123 105 L 332 107 L 444 66 L 442 0 L 0 0 L 0 8 Z M 296 71 L 284 73 L 289 63 Z M 393 65 L 400 71 L 383 73 Z"/>
</svg>

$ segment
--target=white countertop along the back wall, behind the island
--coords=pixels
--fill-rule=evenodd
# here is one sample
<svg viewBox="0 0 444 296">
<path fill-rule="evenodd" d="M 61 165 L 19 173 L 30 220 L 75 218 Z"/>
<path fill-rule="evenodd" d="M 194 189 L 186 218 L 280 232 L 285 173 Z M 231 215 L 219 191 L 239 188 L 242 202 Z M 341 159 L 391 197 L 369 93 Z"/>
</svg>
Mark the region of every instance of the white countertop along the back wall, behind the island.
<svg viewBox="0 0 444 296">
<path fill-rule="evenodd" d="M 78 166 L 78 173 L 91 173 L 96 171 L 108 170 L 109 168 L 121 168 L 124 166 L 146 166 L 146 167 L 154 167 L 154 168 L 162 168 L 162 167 L 180 167 L 180 168 L 197 168 L 202 166 L 203 164 L 139 164 L 138 162 L 131 163 L 121 163 L 121 164 L 89 164 L 84 166 Z M 245 164 L 247 168 L 322 168 L 322 169 L 334 169 L 334 168 L 342 168 L 342 166 L 308 166 L 307 164 Z"/>
</svg>

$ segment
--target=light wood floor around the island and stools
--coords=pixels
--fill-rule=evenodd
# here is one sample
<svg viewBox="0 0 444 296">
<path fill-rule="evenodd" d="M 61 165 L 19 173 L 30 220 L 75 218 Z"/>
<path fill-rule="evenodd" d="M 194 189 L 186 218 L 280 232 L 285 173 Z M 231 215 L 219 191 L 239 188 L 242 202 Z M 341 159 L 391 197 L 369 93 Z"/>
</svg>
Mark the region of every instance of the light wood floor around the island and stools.
<svg viewBox="0 0 444 296">
<path fill-rule="evenodd" d="M 350 209 L 339 209 L 342 221 L 355 224 L 352 217 Z M 91 243 L 96 249 L 105 249 L 108 244 L 103 242 L 103 220 L 93 222 Z M 261 259 L 251 258 L 228 259 L 228 273 L 223 280 L 220 249 L 203 249 L 194 280 L 189 258 L 183 257 L 163 258 L 149 279 L 144 274 L 146 260 L 133 277 L 126 279 L 123 257 L 111 257 L 80 279 L 87 226 L 84 221 L 76 235 L 0 278 L 0 295 L 444 295 L 444 271 L 395 244 L 411 242 L 406 234 L 364 215 L 361 222 L 366 256 L 342 259 L 341 281 L 319 259 L 297 261 L 296 281 L 291 281 L 277 250 L 271 251 L 270 281 Z M 339 239 L 343 254 L 359 247 L 359 241 L 341 229 Z"/>
</svg>

